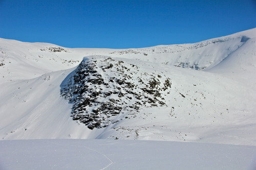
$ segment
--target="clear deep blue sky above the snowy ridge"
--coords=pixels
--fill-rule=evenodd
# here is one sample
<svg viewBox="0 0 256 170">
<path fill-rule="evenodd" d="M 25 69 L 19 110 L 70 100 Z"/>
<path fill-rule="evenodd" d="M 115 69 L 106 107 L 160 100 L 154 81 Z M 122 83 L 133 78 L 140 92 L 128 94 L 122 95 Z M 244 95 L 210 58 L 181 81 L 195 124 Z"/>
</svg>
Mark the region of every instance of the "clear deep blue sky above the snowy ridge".
<svg viewBox="0 0 256 170">
<path fill-rule="evenodd" d="M 1 38 L 65 47 L 193 43 L 255 26 L 255 0 L 0 0 Z"/>
</svg>

